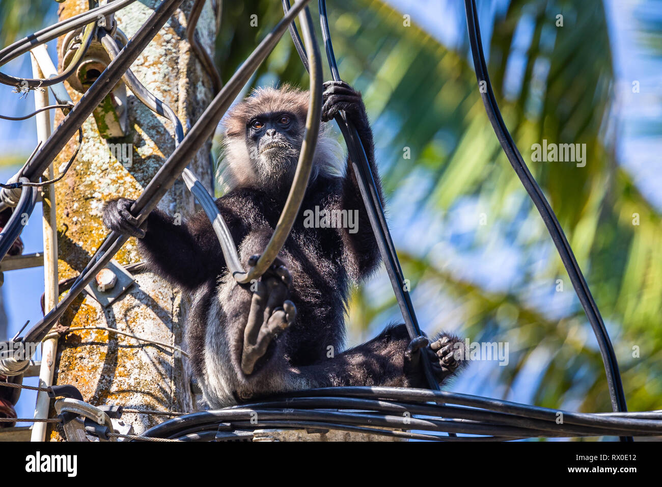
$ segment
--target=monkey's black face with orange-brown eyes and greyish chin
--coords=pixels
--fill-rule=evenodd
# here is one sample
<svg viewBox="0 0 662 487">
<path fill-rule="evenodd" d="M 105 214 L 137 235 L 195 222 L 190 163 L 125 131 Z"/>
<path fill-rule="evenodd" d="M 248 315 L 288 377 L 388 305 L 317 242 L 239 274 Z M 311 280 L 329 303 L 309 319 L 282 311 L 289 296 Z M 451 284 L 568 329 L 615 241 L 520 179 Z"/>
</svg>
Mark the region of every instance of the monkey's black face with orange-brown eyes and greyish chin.
<svg viewBox="0 0 662 487">
<path fill-rule="evenodd" d="M 252 117 L 246 147 L 262 178 L 293 176 L 303 143 L 303 127 L 294 113 L 277 111 Z"/>
</svg>

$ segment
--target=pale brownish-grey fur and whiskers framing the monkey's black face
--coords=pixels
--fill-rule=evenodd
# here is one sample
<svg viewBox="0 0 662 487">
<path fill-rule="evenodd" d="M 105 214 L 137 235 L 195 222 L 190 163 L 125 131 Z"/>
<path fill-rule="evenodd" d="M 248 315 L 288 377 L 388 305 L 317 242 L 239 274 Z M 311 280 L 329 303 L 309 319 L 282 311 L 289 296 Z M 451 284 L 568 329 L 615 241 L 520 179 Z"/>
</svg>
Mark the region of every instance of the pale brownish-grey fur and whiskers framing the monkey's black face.
<svg viewBox="0 0 662 487">
<path fill-rule="evenodd" d="M 273 176 L 261 171 L 250 157 L 246 148 L 246 127 L 253 117 L 277 111 L 289 111 L 297 116 L 301 121 L 303 140 L 303 125 L 308 113 L 308 91 L 287 84 L 278 88 L 260 87 L 254 89 L 250 97 L 230 108 L 223 119 L 225 131 L 220 164 L 216 171 L 216 178 L 224 190 L 254 186 Z M 295 152 L 289 156 L 298 160 L 300 149 L 301 147 L 295 148 Z M 291 172 L 293 175 L 295 166 L 288 168 L 285 164 L 285 160 L 272 161 L 272 169 L 277 172 Z M 342 178 L 345 170 L 344 150 L 334 137 L 330 125 L 322 124 L 312 162 L 310 181 L 316 180 L 320 175 Z"/>
</svg>

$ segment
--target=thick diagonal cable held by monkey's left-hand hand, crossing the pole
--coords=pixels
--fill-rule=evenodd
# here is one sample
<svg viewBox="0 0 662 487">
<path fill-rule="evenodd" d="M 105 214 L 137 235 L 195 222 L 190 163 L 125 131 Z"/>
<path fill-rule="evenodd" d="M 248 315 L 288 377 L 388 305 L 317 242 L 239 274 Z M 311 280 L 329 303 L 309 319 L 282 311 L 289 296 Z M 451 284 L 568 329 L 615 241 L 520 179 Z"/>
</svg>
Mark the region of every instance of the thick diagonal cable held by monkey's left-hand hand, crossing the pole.
<svg viewBox="0 0 662 487">
<path fill-rule="evenodd" d="M 159 6 L 159 9 L 164 8 L 166 2 L 164 0 Z M 177 0 L 179 2 L 181 0 Z M 138 219 L 139 223 L 142 223 L 149 215 L 149 213 L 156 207 L 158 201 L 164 196 L 167 190 L 174 184 L 174 182 L 179 178 L 181 172 L 187 166 L 187 162 L 197 151 L 205 144 L 210 136 L 213 135 L 214 130 L 218 121 L 225 114 L 227 109 L 232 104 L 232 101 L 240 93 L 242 87 L 248 82 L 253 73 L 260 66 L 261 62 L 267 57 L 269 52 L 273 50 L 278 40 L 281 38 L 287 26 L 295 19 L 299 14 L 301 9 L 307 5 L 310 0 L 302 0 L 297 3 L 285 17 L 271 30 L 265 38 L 260 42 L 260 45 L 252 52 L 252 54 L 246 59 L 246 61 L 238 68 L 232 78 L 226 83 L 226 85 L 221 89 L 221 91 L 214 97 L 213 101 L 205 109 L 203 114 L 199 117 L 198 121 L 193 125 L 191 130 L 184 136 L 181 144 L 175 148 L 171 156 L 167 158 L 163 166 L 157 174 L 152 178 L 150 184 L 142 192 L 138 200 L 132 205 L 132 213 Z M 156 15 L 156 13 L 155 13 Z M 154 17 L 154 15 L 152 16 Z M 152 19 L 150 17 L 150 19 Z M 150 22 L 148 19 L 148 22 Z M 164 19 L 164 23 L 167 20 Z M 144 27 L 141 27 L 138 32 L 141 32 Z M 156 34 L 156 32 L 154 32 Z M 136 33 L 138 36 L 138 33 Z M 134 36 L 134 38 L 136 37 Z M 132 39 L 133 40 L 133 39 Z M 132 40 L 129 41 L 129 44 L 120 51 L 117 58 L 109 64 L 108 68 L 104 71 L 107 72 L 111 66 L 113 66 L 119 58 L 122 56 L 122 53 L 129 49 L 132 45 Z M 130 63 L 129 63 L 130 64 Z M 117 66 L 117 65 L 116 65 Z M 128 69 L 128 66 L 122 71 L 124 73 Z M 121 75 L 120 75 L 121 76 Z M 119 78 L 119 77 L 118 77 Z M 101 80 L 101 78 L 99 78 Z M 97 81 L 99 81 L 97 80 Z M 115 81 L 117 82 L 117 80 Z M 96 81 L 95 81 L 96 83 Z M 114 85 L 114 83 L 113 83 Z M 90 89 L 92 89 L 90 87 Z M 89 90 L 88 90 L 89 93 Z M 87 95 L 87 93 L 85 93 Z M 83 98 L 85 95 L 83 95 Z M 82 99 L 81 99 L 82 101 Z M 79 102 L 78 105 L 80 105 Z M 73 110 L 72 110 L 73 112 Z M 71 113 L 70 113 L 71 115 Z M 49 139 L 50 140 L 50 139 Z M 85 266 L 85 269 L 81 272 L 79 278 L 71 286 L 70 291 L 56 304 L 56 306 L 49 311 L 49 313 L 44 316 L 38 323 L 36 323 L 23 337 L 23 343 L 35 343 L 44 339 L 51 327 L 55 322 L 62 316 L 62 313 L 71 305 L 73 299 L 75 299 L 87 286 L 89 282 L 97 275 L 97 273 L 110 262 L 111 258 L 117 253 L 121 246 L 128 240 L 126 235 L 119 235 L 118 233 L 111 232 L 106 239 L 103 241 L 99 249 L 93 256 L 92 260 Z"/>
</svg>

